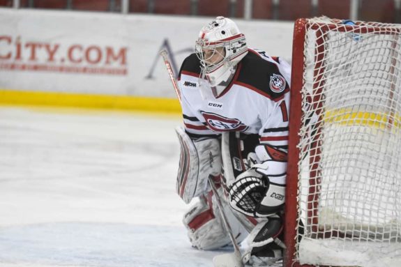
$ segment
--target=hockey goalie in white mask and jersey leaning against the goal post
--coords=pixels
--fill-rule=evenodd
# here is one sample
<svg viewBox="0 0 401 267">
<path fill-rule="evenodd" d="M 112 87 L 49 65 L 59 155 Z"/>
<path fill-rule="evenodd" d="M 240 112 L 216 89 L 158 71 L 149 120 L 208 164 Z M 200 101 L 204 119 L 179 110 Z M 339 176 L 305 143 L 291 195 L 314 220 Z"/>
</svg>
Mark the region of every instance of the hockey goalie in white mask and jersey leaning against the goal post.
<svg viewBox="0 0 401 267">
<path fill-rule="evenodd" d="M 184 127 L 176 128 L 176 190 L 195 203 L 183 218 L 193 247 L 231 244 L 218 198 L 236 242 L 248 236 L 245 266 L 282 259 L 290 77 L 288 63 L 248 48 L 232 20 L 202 27 L 179 72 Z"/>
</svg>

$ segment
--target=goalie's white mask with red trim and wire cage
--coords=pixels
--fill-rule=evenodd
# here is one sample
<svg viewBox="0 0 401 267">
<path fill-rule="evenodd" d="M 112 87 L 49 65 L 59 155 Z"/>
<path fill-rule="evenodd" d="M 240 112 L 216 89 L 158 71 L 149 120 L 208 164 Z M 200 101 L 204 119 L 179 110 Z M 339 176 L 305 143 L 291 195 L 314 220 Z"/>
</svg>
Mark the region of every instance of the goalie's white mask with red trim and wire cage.
<svg viewBox="0 0 401 267">
<path fill-rule="evenodd" d="M 204 99 L 217 97 L 234 76 L 236 65 L 248 53 L 238 26 L 226 17 L 216 17 L 204 26 L 195 44 L 201 65 L 199 85 Z M 209 84 L 205 83 L 205 79 Z"/>
</svg>

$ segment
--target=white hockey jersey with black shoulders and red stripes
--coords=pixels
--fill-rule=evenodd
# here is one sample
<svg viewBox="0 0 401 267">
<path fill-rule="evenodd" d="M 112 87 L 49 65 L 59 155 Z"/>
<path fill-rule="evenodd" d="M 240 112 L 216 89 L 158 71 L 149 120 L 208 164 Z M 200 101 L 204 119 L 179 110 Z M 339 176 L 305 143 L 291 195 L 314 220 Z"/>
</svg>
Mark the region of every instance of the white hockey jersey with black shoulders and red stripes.
<svg viewBox="0 0 401 267">
<path fill-rule="evenodd" d="M 191 138 L 241 131 L 259 134 L 261 144 L 287 149 L 291 79 L 287 62 L 248 49 L 232 82 L 213 100 L 202 99 L 199 66 L 196 54 L 191 54 L 179 73 L 183 121 Z"/>
</svg>

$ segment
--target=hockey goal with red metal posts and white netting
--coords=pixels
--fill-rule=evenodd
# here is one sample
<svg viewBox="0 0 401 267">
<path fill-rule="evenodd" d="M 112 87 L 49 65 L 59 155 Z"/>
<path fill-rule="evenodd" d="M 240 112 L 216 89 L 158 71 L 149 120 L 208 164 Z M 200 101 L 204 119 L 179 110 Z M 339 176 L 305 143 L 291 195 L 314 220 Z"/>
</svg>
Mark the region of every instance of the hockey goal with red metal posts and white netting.
<svg viewBox="0 0 401 267">
<path fill-rule="evenodd" d="M 400 36 L 296 21 L 285 267 L 401 266 Z"/>
</svg>

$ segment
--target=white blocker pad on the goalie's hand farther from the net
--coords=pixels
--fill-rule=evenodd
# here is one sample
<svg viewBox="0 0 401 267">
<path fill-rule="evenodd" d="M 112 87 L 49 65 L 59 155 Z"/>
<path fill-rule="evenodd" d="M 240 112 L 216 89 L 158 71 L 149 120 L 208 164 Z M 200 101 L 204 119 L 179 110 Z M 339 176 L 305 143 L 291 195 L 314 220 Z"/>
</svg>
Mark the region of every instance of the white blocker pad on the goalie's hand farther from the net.
<svg viewBox="0 0 401 267">
<path fill-rule="evenodd" d="M 206 192 L 209 175 L 220 175 L 220 141 L 208 138 L 194 142 L 182 127 L 176 128 L 176 134 L 181 145 L 176 192 L 188 204 L 192 198 Z"/>
</svg>

